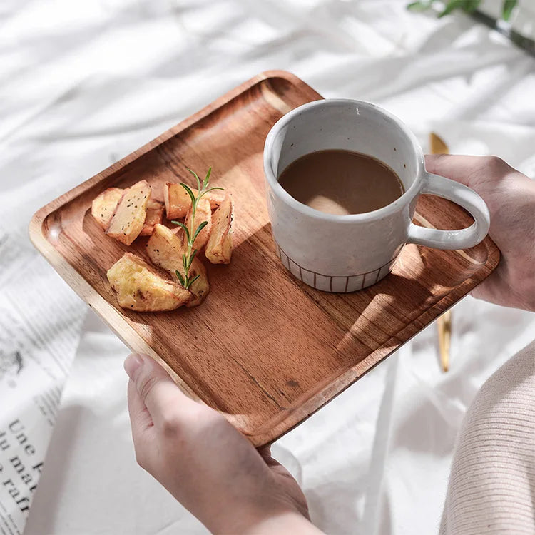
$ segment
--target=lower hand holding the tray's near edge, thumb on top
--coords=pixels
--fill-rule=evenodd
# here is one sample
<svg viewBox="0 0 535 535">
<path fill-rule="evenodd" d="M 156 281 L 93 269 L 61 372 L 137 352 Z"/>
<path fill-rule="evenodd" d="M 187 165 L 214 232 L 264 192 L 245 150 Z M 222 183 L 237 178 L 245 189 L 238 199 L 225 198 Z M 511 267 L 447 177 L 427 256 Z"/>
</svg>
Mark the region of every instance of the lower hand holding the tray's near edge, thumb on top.
<svg viewBox="0 0 535 535">
<path fill-rule="evenodd" d="M 319 534 L 305 495 L 269 448 L 194 402 L 151 357 L 124 364 L 138 464 L 213 533 Z"/>
</svg>

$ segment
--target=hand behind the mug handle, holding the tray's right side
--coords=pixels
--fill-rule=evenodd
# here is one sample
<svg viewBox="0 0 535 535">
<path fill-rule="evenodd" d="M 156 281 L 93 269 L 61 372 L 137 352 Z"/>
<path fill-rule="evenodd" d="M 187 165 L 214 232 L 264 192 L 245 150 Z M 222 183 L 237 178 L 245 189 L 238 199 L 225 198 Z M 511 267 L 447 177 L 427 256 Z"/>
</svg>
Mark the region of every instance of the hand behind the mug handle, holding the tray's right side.
<svg viewBox="0 0 535 535">
<path fill-rule="evenodd" d="M 501 259 L 472 295 L 535 311 L 535 182 L 496 156 L 437 154 L 426 156 L 425 166 L 477 191 L 489 207 L 489 235 Z"/>
</svg>

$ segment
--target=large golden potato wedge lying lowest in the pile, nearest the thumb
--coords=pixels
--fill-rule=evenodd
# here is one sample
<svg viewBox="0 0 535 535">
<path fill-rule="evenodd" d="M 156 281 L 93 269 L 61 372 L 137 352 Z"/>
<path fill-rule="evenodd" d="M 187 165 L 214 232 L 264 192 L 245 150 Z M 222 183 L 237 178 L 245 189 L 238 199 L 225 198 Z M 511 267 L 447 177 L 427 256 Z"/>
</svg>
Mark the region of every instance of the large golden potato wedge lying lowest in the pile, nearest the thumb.
<svg viewBox="0 0 535 535">
<path fill-rule="evenodd" d="M 117 293 L 119 306 L 138 312 L 175 310 L 193 295 L 172 280 L 165 279 L 142 258 L 125 253 L 108 270 L 108 281 Z"/>
</svg>

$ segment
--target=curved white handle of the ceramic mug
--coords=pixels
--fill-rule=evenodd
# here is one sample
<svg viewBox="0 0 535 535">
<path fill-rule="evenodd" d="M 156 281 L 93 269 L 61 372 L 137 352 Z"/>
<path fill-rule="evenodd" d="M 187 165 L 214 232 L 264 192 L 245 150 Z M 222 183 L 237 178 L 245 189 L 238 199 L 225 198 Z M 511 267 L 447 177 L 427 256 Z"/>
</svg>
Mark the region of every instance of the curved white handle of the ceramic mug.
<svg viewBox="0 0 535 535">
<path fill-rule="evenodd" d="M 452 200 L 469 211 L 474 223 L 461 230 L 437 230 L 411 223 L 407 243 L 426 245 L 435 249 L 468 249 L 477 245 L 489 232 L 489 208 L 486 208 L 485 201 L 466 185 L 426 171 L 421 193 Z"/>
</svg>

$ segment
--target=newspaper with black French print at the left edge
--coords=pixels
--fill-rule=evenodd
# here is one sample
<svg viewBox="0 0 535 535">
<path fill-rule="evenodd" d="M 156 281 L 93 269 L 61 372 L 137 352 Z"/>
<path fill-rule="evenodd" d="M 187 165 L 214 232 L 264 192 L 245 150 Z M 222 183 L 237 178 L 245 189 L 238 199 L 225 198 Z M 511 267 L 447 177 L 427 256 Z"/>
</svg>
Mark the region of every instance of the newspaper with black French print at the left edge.
<svg viewBox="0 0 535 535">
<path fill-rule="evenodd" d="M 1 535 L 24 530 L 86 311 L 24 230 L 0 228 Z"/>
</svg>

